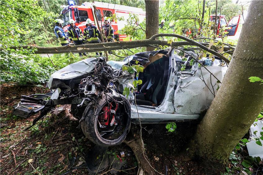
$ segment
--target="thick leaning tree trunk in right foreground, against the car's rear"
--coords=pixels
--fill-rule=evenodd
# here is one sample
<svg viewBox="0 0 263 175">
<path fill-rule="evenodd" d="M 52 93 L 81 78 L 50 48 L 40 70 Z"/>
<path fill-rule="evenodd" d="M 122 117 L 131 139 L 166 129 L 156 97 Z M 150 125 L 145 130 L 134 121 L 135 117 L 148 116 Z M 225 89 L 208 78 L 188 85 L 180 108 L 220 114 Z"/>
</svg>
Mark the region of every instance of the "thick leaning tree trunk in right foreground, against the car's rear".
<svg viewBox="0 0 263 175">
<path fill-rule="evenodd" d="M 263 1 L 252 1 L 223 83 L 191 145 L 201 160 L 224 164 L 263 108 Z M 256 16 L 256 17 L 255 17 Z M 253 27 L 251 27 L 253 26 Z M 255 34 L 256 33 L 256 34 Z M 218 165 L 219 165 L 218 164 Z"/>
</svg>

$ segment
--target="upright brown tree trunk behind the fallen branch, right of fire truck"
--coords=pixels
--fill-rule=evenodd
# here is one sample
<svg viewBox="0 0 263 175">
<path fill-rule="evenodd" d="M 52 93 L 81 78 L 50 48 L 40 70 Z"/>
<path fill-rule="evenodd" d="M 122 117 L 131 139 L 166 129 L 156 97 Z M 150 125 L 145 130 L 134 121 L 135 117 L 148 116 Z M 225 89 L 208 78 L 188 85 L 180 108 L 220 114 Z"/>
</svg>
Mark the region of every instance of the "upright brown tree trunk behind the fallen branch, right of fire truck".
<svg viewBox="0 0 263 175">
<path fill-rule="evenodd" d="M 159 30 L 159 0 L 145 0 L 146 11 L 146 39 L 158 33 Z M 154 47 L 147 47 L 147 51 Z"/>
</svg>

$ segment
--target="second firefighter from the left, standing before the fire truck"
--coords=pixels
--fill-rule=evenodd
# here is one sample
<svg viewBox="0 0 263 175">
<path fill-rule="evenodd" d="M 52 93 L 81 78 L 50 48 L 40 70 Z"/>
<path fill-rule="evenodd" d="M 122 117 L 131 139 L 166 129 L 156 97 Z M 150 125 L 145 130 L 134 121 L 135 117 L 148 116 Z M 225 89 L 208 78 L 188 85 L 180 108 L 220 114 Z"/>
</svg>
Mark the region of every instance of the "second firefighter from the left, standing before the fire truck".
<svg viewBox="0 0 263 175">
<path fill-rule="evenodd" d="M 83 33 L 80 28 L 78 28 L 75 25 L 75 21 L 73 19 L 69 20 L 70 26 L 68 27 L 68 36 L 71 43 L 74 43 L 76 45 L 82 45 L 84 44 L 82 41 Z M 78 53 L 80 57 L 82 57 L 82 54 Z M 86 53 L 83 53 L 83 55 L 86 55 Z"/>
</svg>

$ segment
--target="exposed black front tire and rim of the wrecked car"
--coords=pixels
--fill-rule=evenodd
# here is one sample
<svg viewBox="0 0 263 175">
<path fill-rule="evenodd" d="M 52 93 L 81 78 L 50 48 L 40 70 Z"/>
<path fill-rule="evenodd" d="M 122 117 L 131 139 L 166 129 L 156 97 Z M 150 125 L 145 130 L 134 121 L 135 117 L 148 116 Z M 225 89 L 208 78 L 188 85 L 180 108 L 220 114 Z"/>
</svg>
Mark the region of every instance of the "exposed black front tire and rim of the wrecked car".
<svg viewBox="0 0 263 175">
<path fill-rule="evenodd" d="M 110 93 L 103 95 L 96 103 L 93 102 L 89 104 L 80 120 L 80 126 L 85 136 L 95 144 L 106 147 L 120 145 L 131 128 L 130 102 L 123 95 L 114 97 L 113 99 L 110 95 Z M 115 114 L 110 113 L 110 115 L 108 115 L 111 119 L 113 119 L 114 116 L 114 120 L 112 120 L 114 121 L 113 126 L 109 124 L 103 125 L 101 121 L 101 116 L 106 113 L 103 111 L 105 110 L 103 107 L 109 111 L 109 103 L 112 107 L 116 107 Z"/>
</svg>

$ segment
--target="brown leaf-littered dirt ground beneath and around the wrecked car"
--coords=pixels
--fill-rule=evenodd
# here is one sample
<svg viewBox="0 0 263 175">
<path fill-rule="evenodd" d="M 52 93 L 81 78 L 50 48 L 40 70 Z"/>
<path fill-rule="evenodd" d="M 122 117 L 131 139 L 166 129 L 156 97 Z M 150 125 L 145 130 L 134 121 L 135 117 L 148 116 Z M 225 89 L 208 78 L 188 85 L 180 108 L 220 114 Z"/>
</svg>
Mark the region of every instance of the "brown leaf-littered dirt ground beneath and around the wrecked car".
<svg viewBox="0 0 263 175">
<path fill-rule="evenodd" d="M 60 115 L 48 114 L 42 122 L 25 131 L 38 114 L 28 119 L 13 116 L 12 106 L 19 102 L 21 94 L 47 92 L 44 86 L 1 85 L 1 174 L 137 174 L 132 150 L 125 144 L 108 148 L 96 146 L 85 138 L 78 120 L 70 114 L 69 105 L 59 106 L 63 110 Z M 142 125 L 146 154 L 158 172 L 205 174 L 198 162 L 178 158 L 187 150 L 197 124 L 197 121 L 177 123 L 173 133 L 168 133 L 165 124 Z M 103 151 L 94 154 L 97 149 Z M 247 156 L 245 151 L 242 154 Z M 89 168 L 98 164 L 97 173 L 91 173 L 85 162 Z M 234 165 L 227 166 L 231 169 Z"/>
</svg>

